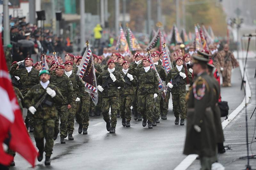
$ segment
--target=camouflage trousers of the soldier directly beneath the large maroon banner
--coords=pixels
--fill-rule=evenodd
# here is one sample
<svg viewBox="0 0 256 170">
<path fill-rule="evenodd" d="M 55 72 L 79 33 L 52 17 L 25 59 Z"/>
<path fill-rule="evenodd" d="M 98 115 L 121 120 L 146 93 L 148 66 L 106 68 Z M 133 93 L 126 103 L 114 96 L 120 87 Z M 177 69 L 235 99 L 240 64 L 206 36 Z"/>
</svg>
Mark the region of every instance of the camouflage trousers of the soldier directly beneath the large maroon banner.
<svg viewBox="0 0 256 170">
<path fill-rule="evenodd" d="M 94 105 L 94 104 L 93 104 Z M 84 95 L 80 102 L 76 105 L 76 122 L 82 124 L 83 128 L 88 129 L 89 126 L 89 110 L 91 106 L 91 97 Z"/>
</svg>

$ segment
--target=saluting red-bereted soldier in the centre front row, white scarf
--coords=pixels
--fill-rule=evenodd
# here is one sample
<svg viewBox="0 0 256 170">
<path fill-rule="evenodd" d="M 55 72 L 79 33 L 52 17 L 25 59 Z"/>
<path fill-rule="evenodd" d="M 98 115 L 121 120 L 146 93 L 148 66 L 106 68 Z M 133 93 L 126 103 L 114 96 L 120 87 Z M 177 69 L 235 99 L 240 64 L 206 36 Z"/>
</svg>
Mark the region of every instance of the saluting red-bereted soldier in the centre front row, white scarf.
<svg viewBox="0 0 256 170">
<path fill-rule="evenodd" d="M 139 82 L 138 101 L 143 117 L 142 126 L 145 127 L 148 120 L 148 128 L 152 129 L 153 106 L 154 99 L 157 97 L 158 93 L 159 79 L 156 71 L 150 68 L 150 60 L 148 58 L 143 59 L 142 65 L 143 68 L 136 69 L 137 64 L 133 64 L 128 70 L 128 73 L 135 75 Z"/>
</svg>

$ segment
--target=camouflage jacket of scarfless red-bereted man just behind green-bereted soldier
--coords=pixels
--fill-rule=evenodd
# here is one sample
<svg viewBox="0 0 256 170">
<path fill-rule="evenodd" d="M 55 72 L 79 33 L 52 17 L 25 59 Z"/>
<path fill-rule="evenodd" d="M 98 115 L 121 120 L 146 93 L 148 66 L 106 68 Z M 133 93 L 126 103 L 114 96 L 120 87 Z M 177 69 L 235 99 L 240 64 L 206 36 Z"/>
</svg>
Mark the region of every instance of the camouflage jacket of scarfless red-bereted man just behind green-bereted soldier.
<svg viewBox="0 0 256 170">
<path fill-rule="evenodd" d="M 64 74 L 62 76 L 51 76 L 50 83 L 57 86 L 60 89 L 62 96 L 64 97 L 63 102 L 58 102 L 56 105 L 67 105 L 72 103 L 73 86 L 68 76 Z"/>
</svg>

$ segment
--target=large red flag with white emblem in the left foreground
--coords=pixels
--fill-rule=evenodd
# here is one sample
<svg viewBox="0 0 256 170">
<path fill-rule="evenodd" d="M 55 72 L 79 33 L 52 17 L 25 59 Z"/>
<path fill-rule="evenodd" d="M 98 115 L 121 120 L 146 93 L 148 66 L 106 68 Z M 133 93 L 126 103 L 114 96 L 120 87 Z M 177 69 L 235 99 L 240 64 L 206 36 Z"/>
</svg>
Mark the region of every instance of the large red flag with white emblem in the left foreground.
<svg viewBox="0 0 256 170">
<path fill-rule="evenodd" d="M 3 142 L 9 138 L 9 148 L 18 152 L 34 167 L 37 150 L 28 136 L 20 107 L 13 91 L 10 75 L 7 71 L 2 34 L 0 32 L 0 164 L 10 165 L 13 157 L 3 150 Z"/>
</svg>

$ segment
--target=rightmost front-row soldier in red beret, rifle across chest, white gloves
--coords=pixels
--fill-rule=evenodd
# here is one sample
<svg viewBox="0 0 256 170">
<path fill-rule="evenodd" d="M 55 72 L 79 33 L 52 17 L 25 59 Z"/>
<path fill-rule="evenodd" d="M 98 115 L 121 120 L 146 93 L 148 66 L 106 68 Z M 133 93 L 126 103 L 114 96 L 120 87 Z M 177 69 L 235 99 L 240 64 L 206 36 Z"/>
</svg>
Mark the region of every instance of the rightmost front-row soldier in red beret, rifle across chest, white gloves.
<svg viewBox="0 0 256 170">
<path fill-rule="evenodd" d="M 169 88 L 171 88 L 172 93 L 172 106 L 175 119 L 175 124 L 184 125 L 184 119 L 186 118 L 186 77 L 188 76 L 189 83 L 192 83 L 192 75 L 190 72 L 185 74 L 185 67 L 183 66 L 183 58 L 178 57 L 176 59 L 176 67 L 172 68 L 166 76 L 166 83 Z M 172 82 L 175 78 L 181 76 L 181 80 L 177 82 L 177 86 L 173 85 Z"/>
</svg>

